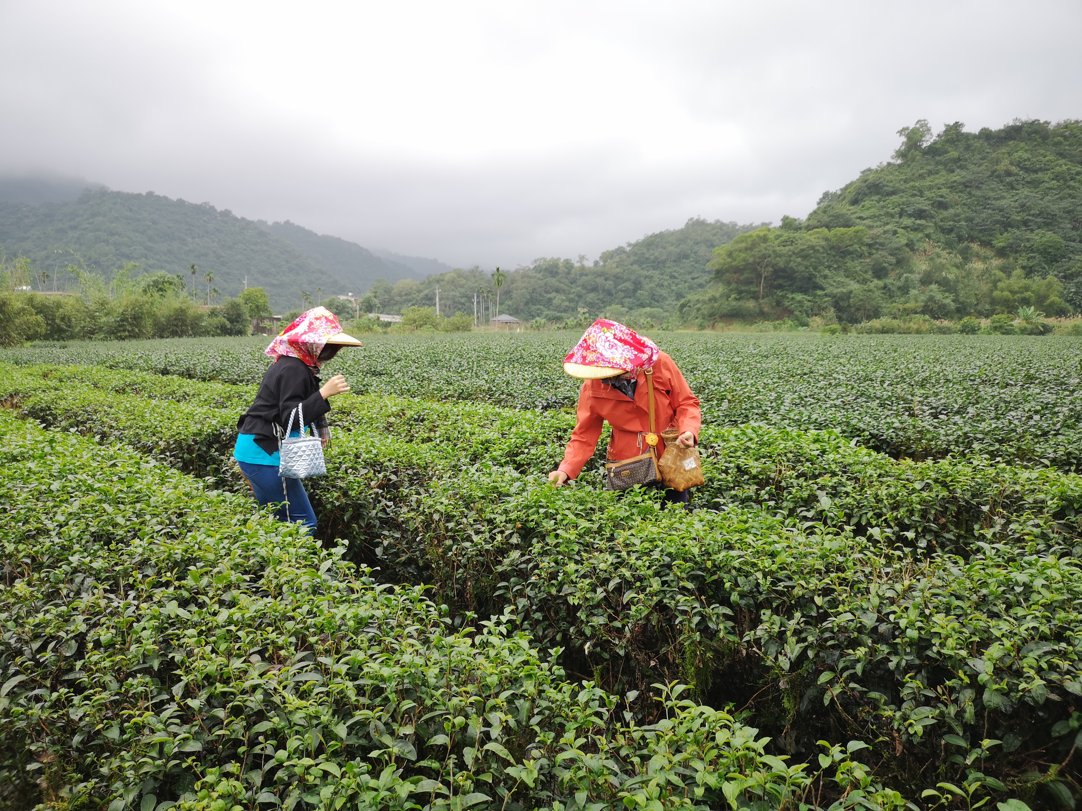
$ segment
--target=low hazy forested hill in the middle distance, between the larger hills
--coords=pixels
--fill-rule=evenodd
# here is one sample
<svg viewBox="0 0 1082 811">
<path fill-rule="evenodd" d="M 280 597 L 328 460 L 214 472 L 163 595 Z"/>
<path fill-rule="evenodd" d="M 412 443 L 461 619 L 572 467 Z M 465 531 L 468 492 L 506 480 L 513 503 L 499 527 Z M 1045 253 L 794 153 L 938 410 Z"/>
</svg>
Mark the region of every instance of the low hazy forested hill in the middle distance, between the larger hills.
<svg viewBox="0 0 1082 811">
<path fill-rule="evenodd" d="M 687 296 L 710 282 L 707 269 L 713 251 L 754 225 L 689 220 L 683 228 L 651 234 L 637 242 L 604 252 L 592 265 L 582 260 L 540 258 L 529 267 L 506 272 L 500 289 L 500 311 L 524 321 L 544 318 L 560 321 L 607 314 L 629 320 L 663 321 Z M 473 314 L 473 295 L 483 292 L 494 301 L 492 277 L 477 268 L 430 276 L 421 281 L 372 288 L 374 302 L 386 313 L 412 306 L 435 305 L 439 289 L 440 311 Z M 483 310 L 484 313 L 485 310 Z M 486 318 L 487 320 L 487 318 Z"/>
</svg>

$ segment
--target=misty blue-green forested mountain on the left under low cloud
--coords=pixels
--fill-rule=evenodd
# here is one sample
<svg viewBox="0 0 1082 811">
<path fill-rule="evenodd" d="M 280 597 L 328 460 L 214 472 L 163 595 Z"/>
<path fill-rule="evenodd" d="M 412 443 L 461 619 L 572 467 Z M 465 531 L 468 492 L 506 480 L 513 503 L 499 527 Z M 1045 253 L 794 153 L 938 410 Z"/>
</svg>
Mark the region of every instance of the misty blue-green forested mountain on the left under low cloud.
<svg viewBox="0 0 1082 811">
<path fill-rule="evenodd" d="M 276 228 L 304 242 L 304 249 L 267 230 Z M 292 224 L 264 228 L 209 203 L 104 188 L 88 189 L 67 202 L 0 202 L 0 247 L 26 256 L 50 278 L 78 257 L 107 278 L 136 262 L 140 274 L 181 274 L 190 285 L 194 264 L 199 290 L 212 287 L 222 296 L 234 296 L 247 277 L 248 287 L 267 291 L 278 311 L 301 306 L 302 290 L 313 297 L 317 289 L 324 295 L 359 294 L 377 277 L 401 279 L 411 272 L 359 245 Z M 213 274 L 210 282 L 207 272 Z M 63 288 L 71 277 L 58 281 Z"/>
</svg>

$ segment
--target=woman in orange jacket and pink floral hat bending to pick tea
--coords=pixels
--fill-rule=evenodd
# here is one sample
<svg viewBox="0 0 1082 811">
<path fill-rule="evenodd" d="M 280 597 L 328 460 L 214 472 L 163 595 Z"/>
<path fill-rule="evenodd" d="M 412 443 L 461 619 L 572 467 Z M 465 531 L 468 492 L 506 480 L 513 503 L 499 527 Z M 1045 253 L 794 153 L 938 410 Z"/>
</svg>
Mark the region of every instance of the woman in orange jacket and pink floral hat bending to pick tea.
<svg viewBox="0 0 1082 811">
<path fill-rule="evenodd" d="M 623 324 L 597 319 L 582 340 L 568 353 L 564 371 L 583 380 L 579 390 L 578 422 L 559 467 L 549 474 L 556 486 L 578 477 L 597 447 L 602 427 L 612 426 L 609 460 L 625 460 L 647 452 L 644 439 L 649 431 L 649 401 L 646 373 L 654 373 L 656 428 L 679 430 L 676 443 L 690 448 L 698 441 L 702 412 L 676 363 L 657 344 Z M 664 453 L 659 439 L 658 457 Z M 687 502 L 687 491 L 668 491 L 668 501 Z"/>
</svg>

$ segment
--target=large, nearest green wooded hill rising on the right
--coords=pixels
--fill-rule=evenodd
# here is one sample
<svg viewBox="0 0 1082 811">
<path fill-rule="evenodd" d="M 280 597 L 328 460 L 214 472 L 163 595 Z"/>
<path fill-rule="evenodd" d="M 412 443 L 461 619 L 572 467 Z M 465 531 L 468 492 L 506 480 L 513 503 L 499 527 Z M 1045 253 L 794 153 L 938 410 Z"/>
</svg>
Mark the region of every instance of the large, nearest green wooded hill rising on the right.
<svg viewBox="0 0 1082 811">
<path fill-rule="evenodd" d="M 1082 309 L 1082 123 L 899 132 L 893 160 L 715 252 L 686 319 Z"/>
</svg>

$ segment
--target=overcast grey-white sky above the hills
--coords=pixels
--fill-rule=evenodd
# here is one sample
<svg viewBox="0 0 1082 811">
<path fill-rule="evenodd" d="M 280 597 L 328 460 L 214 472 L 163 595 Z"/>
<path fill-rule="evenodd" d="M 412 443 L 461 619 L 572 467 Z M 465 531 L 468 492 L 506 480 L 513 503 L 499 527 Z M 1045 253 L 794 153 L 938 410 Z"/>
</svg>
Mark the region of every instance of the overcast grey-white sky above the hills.
<svg viewBox="0 0 1082 811">
<path fill-rule="evenodd" d="M 804 216 L 919 118 L 1082 118 L 1080 0 L 0 0 L 0 173 L 458 266 Z"/>
</svg>

